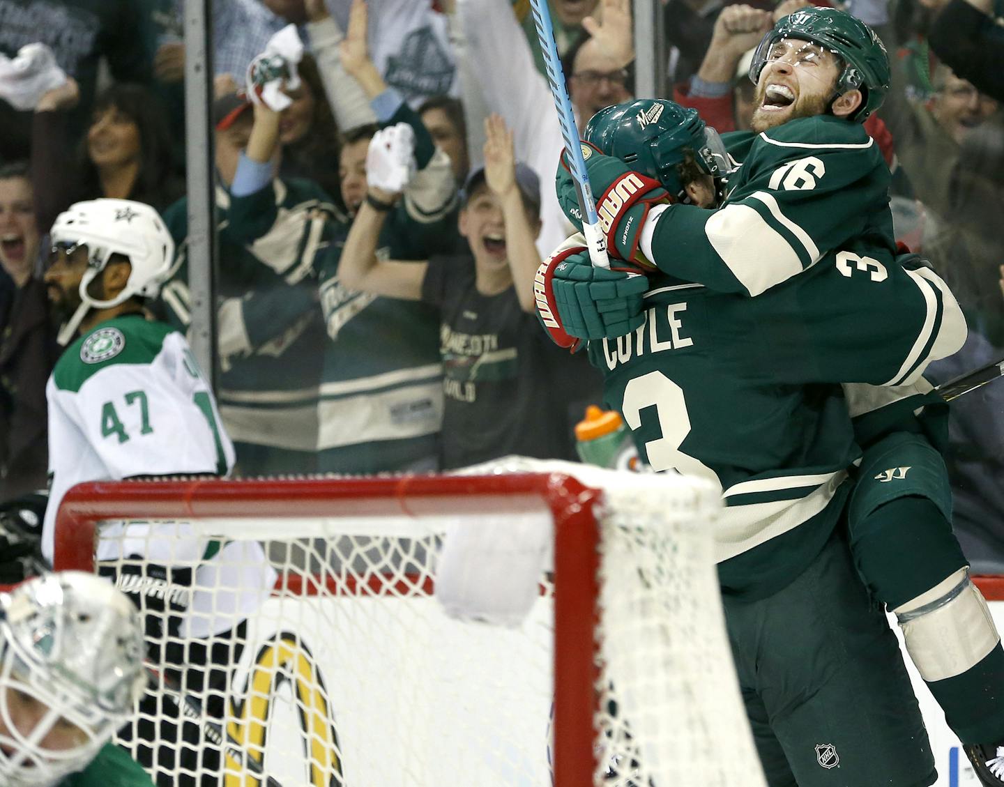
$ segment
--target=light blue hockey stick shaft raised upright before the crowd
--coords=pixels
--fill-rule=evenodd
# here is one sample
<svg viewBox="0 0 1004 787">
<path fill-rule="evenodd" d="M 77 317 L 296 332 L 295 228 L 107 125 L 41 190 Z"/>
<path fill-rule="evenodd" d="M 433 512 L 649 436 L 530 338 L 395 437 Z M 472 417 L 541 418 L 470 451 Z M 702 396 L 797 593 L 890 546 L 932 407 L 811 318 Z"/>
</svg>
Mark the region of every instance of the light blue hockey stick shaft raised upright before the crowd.
<svg viewBox="0 0 1004 787">
<path fill-rule="evenodd" d="M 568 97 L 568 85 L 561 70 L 561 59 L 558 57 L 558 46 L 554 40 L 554 27 L 547 9 L 547 0 L 530 0 L 530 7 L 533 11 L 533 23 L 537 28 L 537 40 L 544 53 L 547 83 L 550 85 L 554 108 L 557 109 L 558 121 L 561 124 L 568 170 L 575 182 L 575 199 L 578 201 L 582 234 L 585 235 L 585 245 L 589 249 L 589 259 L 597 268 L 609 268 L 606 235 L 599 226 L 596 201 L 592 197 L 589 176 L 585 170 L 585 159 L 582 158 L 582 146 L 578 139 L 578 129 L 575 127 L 575 114 L 571 108 L 571 99 Z"/>
</svg>

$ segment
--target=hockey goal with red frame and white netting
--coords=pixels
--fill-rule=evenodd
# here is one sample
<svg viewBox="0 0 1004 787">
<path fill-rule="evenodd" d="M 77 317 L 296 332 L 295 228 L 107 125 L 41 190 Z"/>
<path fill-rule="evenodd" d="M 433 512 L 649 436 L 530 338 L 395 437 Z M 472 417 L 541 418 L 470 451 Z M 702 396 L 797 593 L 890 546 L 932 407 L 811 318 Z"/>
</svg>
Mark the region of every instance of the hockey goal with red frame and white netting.
<svg viewBox="0 0 1004 787">
<path fill-rule="evenodd" d="M 247 708 L 253 705 L 250 700 L 231 700 L 224 726 L 259 767 L 283 787 L 383 783 L 383 777 L 373 775 L 363 780 L 351 778 L 353 768 L 376 769 L 384 764 L 362 764 L 364 756 L 373 753 L 359 751 L 363 747 L 351 742 L 350 730 L 355 722 L 349 720 L 354 708 L 340 707 L 334 696 L 337 693 L 328 691 L 334 682 L 331 677 L 341 669 L 339 660 L 351 660 L 353 652 L 370 653 L 359 655 L 358 661 L 363 667 L 371 666 L 375 675 L 375 663 L 386 649 L 379 643 L 381 638 L 397 634 L 388 633 L 390 623 L 383 620 L 383 604 L 376 606 L 371 600 L 360 599 L 382 598 L 395 602 L 388 606 L 404 606 L 403 599 L 408 600 L 404 611 L 392 615 L 393 624 L 400 622 L 408 631 L 404 639 L 395 640 L 408 644 L 399 646 L 411 647 L 411 642 L 421 636 L 420 627 L 435 617 L 436 622 L 431 624 L 445 626 L 447 633 L 431 634 L 434 644 L 438 646 L 444 637 L 449 639 L 446 654 L 438 658 L 449 661 L 459 654 L 465 670 L 468 666 L 477 668 L 479 663 L 488 664 L 492 652 L 501 646 L 493 645 L 493 641 L 504 641 L 512 660 L 521 659 L 525 648 L 529 653 L 526 665 L 535 666 L 517 667 L 520 678 L 501 692 L 505 697 L 496 696 L 498 693 L 488 688 L 501 669 L 498 665 L 491 668 L 494 672 L 482 678 L 475 676 L 469 685 L 459 688 L 450 686 L 467 680 L 466 675 L 453 680 L 459 671 L 451 672 L 444 681 L 447 691 L 457 691 L 458 695 L 431 701 L 436 708 L 466 707 L 472 698 L 479 709 L 501 703 L 497 716 L 486 712 L 490 720 L 496 720 L 489 722 L 494 729 L 479 733 L 482 737 L 476 744 L 457 744 L 451 750 L 459 758 L 462 749 L 464 757 L 468 748 L 476 754 L 484 749 L 481 755 L 491 762 L 485 766 L 485 775 L 475 780 L 468 775 L 466 782 L 452 783 L 545 784 L 548 782 L 541 780 L 541 774 L 549 781 L 553 766 L 553 783 L 558 787 L 646 784 L 645 779 L 652 779 L 657 786 L 754 785 L 753 774 L 759 768 L 742 713 L 711 561 L 708 523 L 720 505 L 717 491 L 702 482 L 655 476 L 635 476 L 628 482 L 629 489 L 618 490 L 625 483 L 622 475 L 590 470 L 588 476 L 582 476 L 581 466 L 562 464 L 558 466 L 561 472 L 545 469 L 549 467 L 524 463 L 517 469 L 531 468 L 535 472 L 483 471 L 486 474 L 457 476 L 168 479 L 82 484 L 72 489 L 60 506 L 55 568 L 94 571 L 99 537 L 104 542 L 121 539 L 123 527 L 146 527 L 152 522 L 160 524 L 144 531 L 148 539 L 180 541 L 182 538 L 165 536 L 165 532 L 184 523 L 185 538 L 197 533 L 214 543 L 232 544 L 240 539 L 266 542 L 270 558 L 281 546 L 282 559 L 276 565 L 278 579 L 270 599 L 284 604 L 278 619 L 286 625 L 300 614 L 293 614 L 293 610 L 323 607 L 321 617 L 302 618 L 306 622 L 301 623 L 304 640 L 311 640 L 310 648 L 304 646 L 303 652 L 319 665 L 310 668 L 313 685 L 319 687 L 315 693 L 319 699 L 304 710 L 304 692 L 296 684 L 289 690 L 290 697 L 284 699 L 290 705 L 300 704 L 295 712 L 283 716 L 281 710 L 275 710 L 278 705 L 268 706 L 271 710 L 263 712 L 257 726 L 247 719 L 230 719 L 229 714 L 239 716 L 241 708 L 246 715 Z M 583 480 L 569 475 L 569 470 Z M 647 498 L 651 499 L 645 502 Z M 441 610 L 432 611 L 436 606 L 431 598 L 435 591 L 435 557 L 427 558 L 425 553 L 435 552 L 443 538 L 449 537 L 450 528 L 505 527 L 507 520 L 520 517 L 544 517 L 553 528 L 553 565 L 540 579 L 540 609 L 535 607 L 532 619 L 515 631 L 494 631 L 485 623 L 441 623 Z M 400 568 L 392 565 L 394 560 L 387 555 L 400 552 L 397 540 L 414 540 L 410 527 L 417 528 L 414 538 L 426 540 L 420 550 L 409 551 L 401 558 L 408 565 Z M 112 531 L 117 535 L 109 536 Z M 337 559 L 324 552 L 333 548 L 331 544 L 346 539 L 350 546 L 345 546 L 346 551 L 340 552 Z M 289 558 L 289 544 L 301 542 L 311 544 L 309 549 L 303 547 L 308 550 L 307 557 Z M 121 553 L 124 549 L 121 547 L 112 558 L 105 556 L 101 564 L 112 569 L 117 565 L 115 570 L 121 576 L 122 565 L 130 559 Z M 363 554 L 364 560 L 360 557 Z M 358 567 L 355 564 L 360 560 L 364 565 Z M 265 606 L 267 603 L 262 610 Z M 343 613 L 351 618 L 350 623 L 342 624 L 339 616 Z M 252 613 L 255 623 L 257 616 Z M 370 620 L 378 617 L 381 622 L 374 622 L 373 630 L 369 630 Z M 468 643 L 466 632 L 471 629 L 475 638 L 484 638 L 488 644 L 473 640 Z M 546 662 L 540 661 L 539 642 L 516 642 L 524 633 L 531 633 L 529 638 L 533 638 L 537 635 L 534 632 L 544 629 L 551 638 L 550 650 L 543 652 Z M 352 639 L 356 634 L 360 637 L 357 642 Z M 378 644 L 367 649 L 369 645 L 362 643 L 366 637 L 375 637 Z M 251 640 L 249 633 L 245 657 L 255 650 Z M 288 655 L 289 648 L 295 649 L 301 641 L 297 634 L 295 641 L 283 645 L 287 650 L 282 652 Z M 346 641 L 351 642 L 347 657 L 339 650 Z M 485 650 L 478 649 L 483 646 Z M 260 646 L 256 647 L 256 652 L 262 652 Z M 464 653 L 468 648 L 469 657 Z M 274 647 L 269 652 L 274 655 Z M 243 666 L 234 665 L 234 671 L 243 676 L 243 688 L 234 677 L 227 691 L 251 697 L 247 693 L 252 692 L 256 680 L 254 670 L 261 665 L 248 666 L 244 661 Z M 290 657 L 290 663 L 293 661 Z M 540 669 L 541 665 L 546 666 Z M 362 677 L 338 681 L 339 685 L 365 681 L 359 665 L 352 669 L 353 676 Z M 321 672 L 326 673 L 324 681 L 320 680 Z M 542 688 L 536 692 L 542 696 L 520 700 L 523 705 L 517 703 L 515 711 L 503 708 L 508 695 L 518 694 L 524 684 L 537 681 L 530 672 L 550 673 L 542 677 Z M 383 691 L 381 684 L 397 677 L 394 672 L 387 675 L 391 678 L 374 677 L 375 692 Z M 414 681 L 409 679 L 406 686 L 412 683 L 424 684 L 425 674 Z M 519 686 L 512 685 L 516 683 Z M 276 692 L 276 685 L 275 681 L 268 683 L 267 691 Z M 430 691 L 438 690 L 434 687 Z M 364 699 L 353 702 L 368 705 Z M 383 705 L 389 701 L 372 702 Z M 519 718 L 520 708 L 525 708 L 525 718 Z M 440 715 L 448 713 L 442 710 Z M 409 715 L 397 714 L 396 720 L 400 724 L 402 716 Z M 309 723 L 303 721 L 305 716 L 310 716 Z M 269 743 L 279 729 L 289 726 L 282 722 L 294 719 L 303 726 L 301 759 L 306 764 L 299 772 L 284 761 L 288 751 L 280 751 L 295 748 L 288 745 L 288 740 L 282 746 Z M 467 710 L 458 710 L 456 719 L 440 721 L 444 725 L 440 733 L 447 728 L 452 734 L 453 727 L 476 726 Z M 319 742 L 318 724 L 330 728 L 327 737 L 321 736 Z M 379 720 L 376 724 L 378 730 L 387 729 Z M 510 730 L 507 725 L 527 729 Z M 719 735 L 711 734 L 712 725 Z M 747 730 L 745 736 L 741 735 L 743 729 Z M 716 752 L 724 734 L 730 740 L 728 758 Z M 358 740 L 371 740 L 372 735 L 356 733 Z M 417 740 L 423 737 L 421 730 L 415 735 Z M 325 755 L 325 746 L 336 749 L 336 753 Z M 498 748 L 493 749 L 495 746 Z M 383 745 L 380 748 L 378 759 L 393 759 Z M 409 761 L 404 766 L 408 773 L 395 781 L 396 785 L 418 786 L 427 778 L 444 778 L 441 771 L 436 771 L 435 777 L 421 775 L 419 766 L 411 763 L 416 758 L 419 752 L 403 755 Z M 450 757 L 441 754 L 431 755 L 430 759 Z M 497 764 L 502 760 L 506 760 L 504 767 Z M 435 770 L 447 766 L 434 762 L 430 767 Z M 226 771 L 224 783 L 228 787 L 260 783 L 254 773 L 231 758 L 227 759 Z"/>
</svg>

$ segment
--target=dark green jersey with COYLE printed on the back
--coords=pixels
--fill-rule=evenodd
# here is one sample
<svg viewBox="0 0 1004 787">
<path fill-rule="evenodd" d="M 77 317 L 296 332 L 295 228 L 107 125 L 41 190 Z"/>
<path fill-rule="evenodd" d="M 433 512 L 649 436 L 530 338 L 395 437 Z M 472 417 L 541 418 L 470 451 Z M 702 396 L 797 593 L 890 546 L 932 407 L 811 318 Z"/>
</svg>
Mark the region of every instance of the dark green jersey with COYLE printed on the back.
<svg viewBox="0 0 1004 787">
<path fill-rule="evenodd" d="M 605 403 L 656 471 L 721 485 L 722 586 L 766 595 L 817 553 L 849 492 L 860 450 L 840 383 L 904 390 L 962 345 L 965 319 L 933 271 L 864 242 L 756 298 L 650 283 L 645 324 L 589 343 Z"/>
</svg>

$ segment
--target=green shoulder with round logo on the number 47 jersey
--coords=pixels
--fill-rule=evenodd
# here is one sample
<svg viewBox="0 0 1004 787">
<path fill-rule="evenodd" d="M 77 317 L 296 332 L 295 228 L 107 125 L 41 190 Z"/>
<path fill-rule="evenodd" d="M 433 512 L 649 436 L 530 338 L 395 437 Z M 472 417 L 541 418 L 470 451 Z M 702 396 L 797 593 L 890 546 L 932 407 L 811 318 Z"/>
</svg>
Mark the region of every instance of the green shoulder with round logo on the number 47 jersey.
<svg viewBox="0 0 1004 787">
<path fill-rule="evenodd" d="M 151 363 L 175 329 L 139 314 L 99 322 L 59 356 L 52 379 L 60 390 L 76 392 L 102 368 L 119 363 Z"/>
</svg>

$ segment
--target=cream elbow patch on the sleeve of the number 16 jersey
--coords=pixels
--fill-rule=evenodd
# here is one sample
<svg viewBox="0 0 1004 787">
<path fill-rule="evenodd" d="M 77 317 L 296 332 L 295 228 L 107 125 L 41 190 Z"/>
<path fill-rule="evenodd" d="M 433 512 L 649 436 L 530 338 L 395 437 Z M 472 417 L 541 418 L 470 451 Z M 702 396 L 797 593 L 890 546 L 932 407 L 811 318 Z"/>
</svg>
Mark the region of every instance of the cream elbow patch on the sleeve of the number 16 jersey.
<svg viewBox="0 0 1004 787">
<path fill-rule="evenodd" d="M 751 296 L 802 272 L 801 260 L 791 244 L 749 205 L 736 203 L 722 208 L 708 219 L 704 232 Z"/>
</svg>

